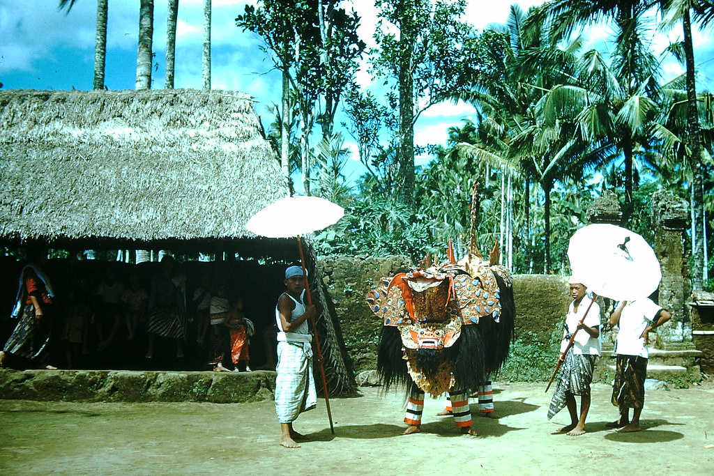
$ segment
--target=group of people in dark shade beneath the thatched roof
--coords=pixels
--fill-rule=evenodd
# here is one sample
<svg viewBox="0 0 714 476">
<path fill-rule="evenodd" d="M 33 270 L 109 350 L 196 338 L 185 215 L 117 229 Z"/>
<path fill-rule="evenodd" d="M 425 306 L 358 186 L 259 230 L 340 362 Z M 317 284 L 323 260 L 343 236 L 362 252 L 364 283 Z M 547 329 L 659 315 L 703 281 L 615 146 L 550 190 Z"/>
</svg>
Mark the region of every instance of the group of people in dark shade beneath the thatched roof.
<svg viewBox="0 0 714 476">
<path fill-rule="evenodd" d="M 250 370 L 248 343 L 255 328 L 243 313 L 243 298 L 229 295 L 225 283 L 212 285 L 207 273 L 187 298 L 186 275 L 166 255 L 148 286 L 139 273 L 132 272 L 125 282 L 108 267 L 96 286 L 89 275 L 73 275 L 69 285 L 61 283 L 65 295 L 58 299 L 41 265 L 44 256 L 30 258 L 20 273 L 11 313 L 16 325 L 1 350 L 0 366 L 76 368 L 82 355 L 110 348 L 119 335 L 135 340 L 139 330 L 146 335 L 145 343 L 139 343 L 146 345 L 144 358 L 154 358 L 161 338 L 175 342 L 176 358 L 181 359 L 190 326 L 196 345 L 207 348 L 207 368 Z M 57 351 L 63 344 L 64 355 Z M 272 351 L 268 354 L 272 358 Z"/>
</svg>

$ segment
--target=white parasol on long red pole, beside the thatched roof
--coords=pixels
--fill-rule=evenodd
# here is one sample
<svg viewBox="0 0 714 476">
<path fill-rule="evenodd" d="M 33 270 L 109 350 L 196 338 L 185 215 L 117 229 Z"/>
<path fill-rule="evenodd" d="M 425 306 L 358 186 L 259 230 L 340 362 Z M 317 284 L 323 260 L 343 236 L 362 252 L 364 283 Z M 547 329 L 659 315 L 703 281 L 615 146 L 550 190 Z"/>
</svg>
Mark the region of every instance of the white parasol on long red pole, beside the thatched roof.
<svg viewBox="0 0 714 476">
<path fill-rule="evenodd" d="M 308 283 L 308 273 L 305 267 L 305 255 L 303 253 L 303 244 L 300 239 L 305 233 L 322 230 L 342 218 L 345 214 L 344 209 L 319 197 L 308 196 L 291 196 L 281 198 L 275 203 L 266 206 L 261 211 L 248 220 L 246 228 L 256 235 L 265 236 L 267 238 L 291 238 L 296 237 L 298 240 L 298 251 L 300 253 L 300 262 L 303 268 L 303 276 L 305 278 L 305 292 L 308 299 L 308 305 L 312 304 L 312 295 L 310 293 L 310 285 Z M 320 365 L 320 376 L 322 378 L 322 388 L 325 392 L 325 407 L 327 408 L 327 416 L 330 420 L 330 430 L 335 434 L 335 427 L 332 422 L 332 412 L 330 410 L 330 396 L 327 390 L 327 380 L 325 377 L 325 367 L 323 366 L 322 350 L 320 348 L 320 338 L 317 333 L 317 325 L 314 318 L 311 318 L 313 333 L 315 336 L 315 348 L 317 353 L 318 364 Z"/>
</svg>

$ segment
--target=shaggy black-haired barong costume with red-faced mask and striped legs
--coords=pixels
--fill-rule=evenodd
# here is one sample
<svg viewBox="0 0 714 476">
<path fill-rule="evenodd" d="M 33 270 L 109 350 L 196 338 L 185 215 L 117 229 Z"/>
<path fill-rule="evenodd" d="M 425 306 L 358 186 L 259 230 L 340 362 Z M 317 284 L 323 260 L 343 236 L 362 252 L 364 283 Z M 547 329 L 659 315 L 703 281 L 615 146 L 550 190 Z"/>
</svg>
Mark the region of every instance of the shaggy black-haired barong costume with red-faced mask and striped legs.
<svg viewBox="0 0 714 476">
<path fill-rule="evenodd" d="M 448 392 L 456 425 L 471 426 L 468 395 L 508 358 L 516 314 L 511 273 L 447 263 L 381 282 L 366 300 L 383 320 L 377 366 L 385 388 L 407 386 L 404 421 L 419 425 L 424 395 Z"/>
</svg>

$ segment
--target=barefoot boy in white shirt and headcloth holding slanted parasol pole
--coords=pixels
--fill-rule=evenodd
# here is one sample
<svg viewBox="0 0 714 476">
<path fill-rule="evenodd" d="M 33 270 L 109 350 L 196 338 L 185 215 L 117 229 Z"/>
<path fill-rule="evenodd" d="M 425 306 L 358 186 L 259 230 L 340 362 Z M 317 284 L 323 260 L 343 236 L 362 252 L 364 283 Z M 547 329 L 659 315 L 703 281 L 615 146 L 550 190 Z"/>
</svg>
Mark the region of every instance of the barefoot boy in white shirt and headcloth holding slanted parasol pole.
<svg viewBox="0 0 714 476">
<path fill-rule="evenodd" d="M 580 436 L 585 433 L 585 418 L 588 417 L 588 410 L 590 410 L 590 382 L 593 381 L 595 360 L 600 355 L 600 306 L 585 295 L 586 289 L 585 285 L 580 283 L 580 279 L 570 278 L 570 296 L 573 302 L 568 306 L 563 340 L 560 342 L 560 358 L 563 360 L 563 365 L 558 375 L 558 383 L 555 385 L 553 400 L 550 401 L 550 408 L 548 408 L 548 420 L 550 420 L 563 407 L 568 407 L 570 425 L 558 430 L 566 432 L 568 436 Z M 580 323 L 580 320 L 583 322 Z M 562 353 L 568 347 L 573 334 L 575 334 L 573 345 L 563 357 Z M 575 395 L 580 395 L 579 415 Z"/>
</svg>

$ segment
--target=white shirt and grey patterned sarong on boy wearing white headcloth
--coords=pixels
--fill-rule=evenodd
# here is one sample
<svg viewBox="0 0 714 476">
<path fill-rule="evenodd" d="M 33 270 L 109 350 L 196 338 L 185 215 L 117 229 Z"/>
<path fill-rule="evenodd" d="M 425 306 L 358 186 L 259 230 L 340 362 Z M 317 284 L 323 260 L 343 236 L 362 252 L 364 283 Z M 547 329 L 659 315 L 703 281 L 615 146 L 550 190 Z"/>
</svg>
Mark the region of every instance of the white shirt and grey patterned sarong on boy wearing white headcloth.
<svg viewBox="0 0 714 476">
<path fill-rule="evenodd" d="M 590 306 L 592 303 L 592 306 Z M 590 308 L 590 310 L 588 310 Z M 585 316 L 585 312 L 588 315 Z M 600 325 L 600 306 L 593 303 L 587 295 L 580 300 L 578 311 L 575 303 L 570 303 L 568 313 L 563 323 L 563 340 L 560 341 L 560 353 L 565 352 L 570 337 L 575 333 L 573 345 L 565 354 L 563 365 L 560 366 L 555 393 L 550 400 L 548 420 L 565 407 L 565 394 L 590 395 L 590 383 L 593 381 L 595 362 L 600 355 L 600 337 L 593 338 L 585 330 L 578 330 L 578 323 L 585 316 L 583 323 L 590 328 Z M 577 331 L 577 333 L 575 332 Z"/>
</svg>

